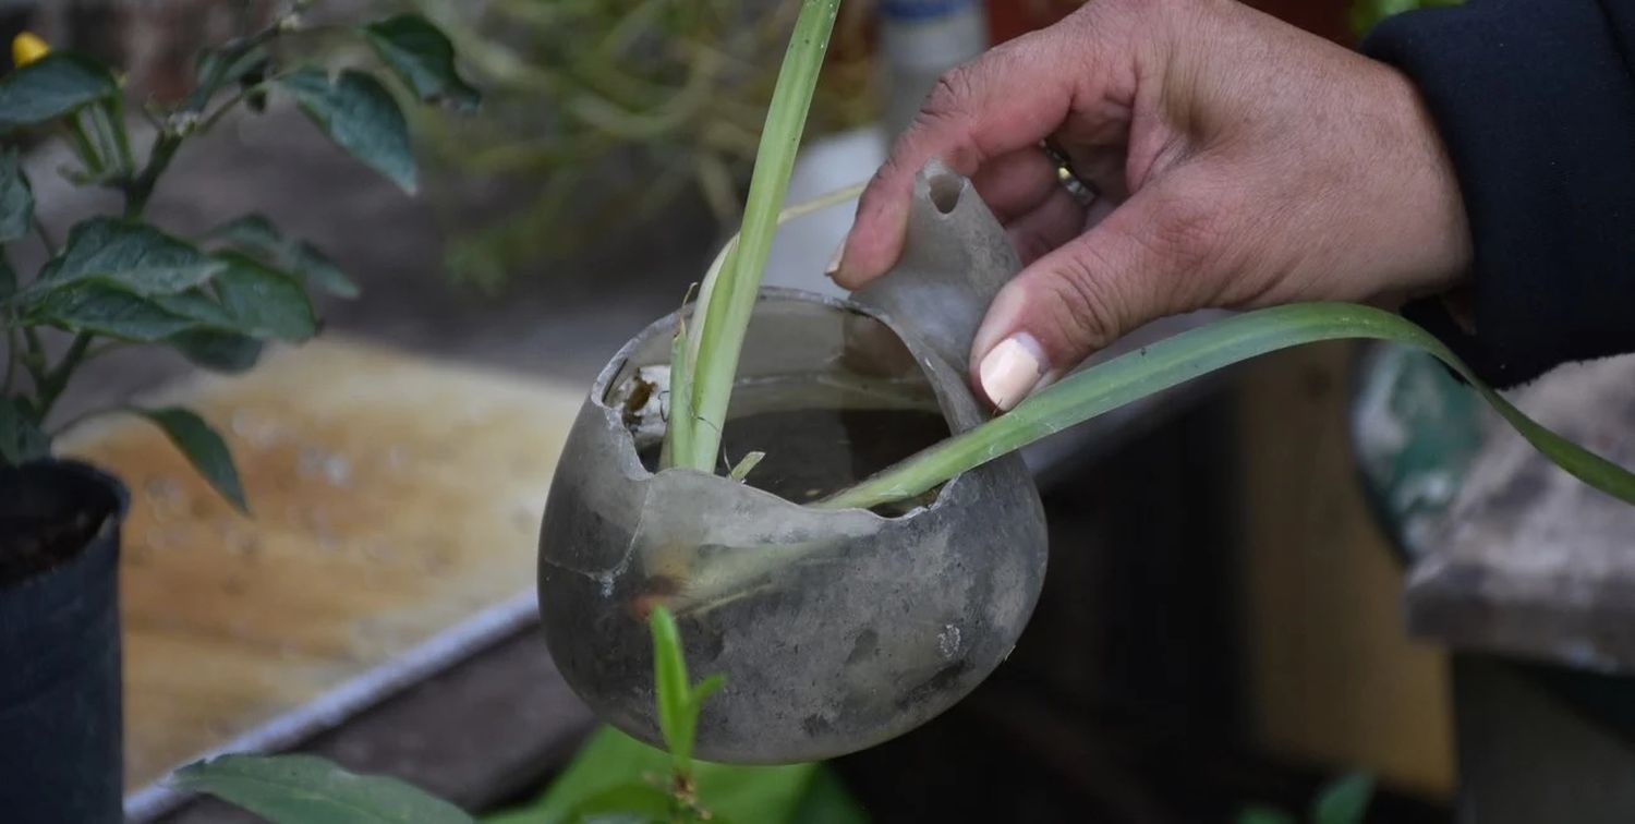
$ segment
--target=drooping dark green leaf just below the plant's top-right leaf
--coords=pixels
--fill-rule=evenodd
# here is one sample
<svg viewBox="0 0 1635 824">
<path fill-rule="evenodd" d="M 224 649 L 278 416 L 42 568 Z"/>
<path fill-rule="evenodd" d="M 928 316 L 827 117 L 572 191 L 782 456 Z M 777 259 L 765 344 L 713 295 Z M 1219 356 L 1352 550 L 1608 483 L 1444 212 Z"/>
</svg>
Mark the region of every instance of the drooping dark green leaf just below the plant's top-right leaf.
<svg viewBox="0 0 1635 824">
<path fill-rule="evenodd" d="M 301 69 L 278 78 L 301 111 L 370 168 L 407 193 L 415 191 L 409 124 L 397 101 L 374 77 L 347 69 L 332 78 L 322 69 Z"/>
</svg>

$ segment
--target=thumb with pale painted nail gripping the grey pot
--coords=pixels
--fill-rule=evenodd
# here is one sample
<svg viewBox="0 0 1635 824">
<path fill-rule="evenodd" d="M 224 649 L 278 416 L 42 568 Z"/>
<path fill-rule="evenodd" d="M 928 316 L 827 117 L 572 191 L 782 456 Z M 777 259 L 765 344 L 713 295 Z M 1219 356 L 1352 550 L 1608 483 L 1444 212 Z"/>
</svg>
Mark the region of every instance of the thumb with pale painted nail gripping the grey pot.
<svg viewBox="0 0 1635 824">
<path fill-rule="evenodd" d="M 999 291 L 970 365 L 994 407 L 1009 410 L 1148 320 L 1202 306 L 1213 219 L 1164 188 L 1143 188 Z"/>
</svg>

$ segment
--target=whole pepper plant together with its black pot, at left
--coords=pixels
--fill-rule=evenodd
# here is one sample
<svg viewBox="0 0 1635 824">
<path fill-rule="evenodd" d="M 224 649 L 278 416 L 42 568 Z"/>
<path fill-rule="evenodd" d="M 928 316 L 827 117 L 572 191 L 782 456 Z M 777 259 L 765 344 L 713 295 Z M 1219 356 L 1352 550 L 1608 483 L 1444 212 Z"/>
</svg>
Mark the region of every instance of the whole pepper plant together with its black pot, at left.
<svg viewBox="0 0 1635 824">
<path fill-rule="evenodd" d="M 13 44 L 0 77 L 0 136 L 67 141 L 60 173 L 111 190 L 114 214 L 51 227 L 15 146 L 0 152 L 0 809 L 8 821 L 118 821 L 121 714 L 118 548 L 126 490 L 95 468 L 56 459 L 52 440 L 90 415 L 157 425 L 239 512 L 249 513 L 226 441 L 180 407 L 118 405 L 69 420 L 59 401 L 80 368 L 126 345 L 168 347 L 216 371 L 244 371 L 270 342 L 317 329 L 311 293 L 356 294 L 312 245 L 262 216 L 180 237 L 146 221 L 149 199 L 190 139 L 268 96 L 293 100 L 342 149 L 407 191 L 415 163 L 402 111 L 383 83 L 396 77 L 420 101 L 476 103 L 453 49 L 423 18 L 399 15 L 350 28 L 379 67 L 330 72 L 312 62 L 294 3 L 260 31 L 204 49 L 181 100 L 149 103 L 147 137 L 126 123 L 121 82 L 33 34 Z M 146 142 L 146 146 L 139 146 Z M 46 262 L 13 268 L 38 237 Z"/>
</svg>

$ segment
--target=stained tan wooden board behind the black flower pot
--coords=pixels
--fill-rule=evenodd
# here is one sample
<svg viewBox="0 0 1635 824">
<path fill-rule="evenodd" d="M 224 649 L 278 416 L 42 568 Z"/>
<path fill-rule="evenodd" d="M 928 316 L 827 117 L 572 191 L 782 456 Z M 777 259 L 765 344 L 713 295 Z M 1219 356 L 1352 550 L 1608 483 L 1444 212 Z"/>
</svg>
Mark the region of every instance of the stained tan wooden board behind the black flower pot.
<svg viewBox="0 0 1635 824">
<path fill-rule="evenodd" d="M 325 340 L 185 402 L 229 440 L 234 513 L 152 427 L 64 451 L 126 479 L 126 786 L 289 713 L 533 587 L 582 389 Z"/>
</svg>

